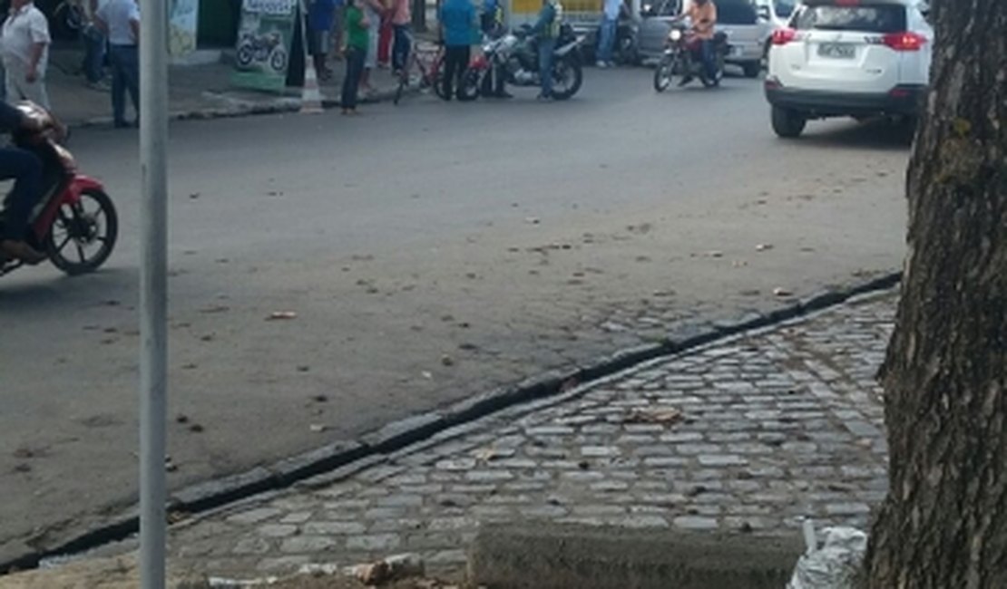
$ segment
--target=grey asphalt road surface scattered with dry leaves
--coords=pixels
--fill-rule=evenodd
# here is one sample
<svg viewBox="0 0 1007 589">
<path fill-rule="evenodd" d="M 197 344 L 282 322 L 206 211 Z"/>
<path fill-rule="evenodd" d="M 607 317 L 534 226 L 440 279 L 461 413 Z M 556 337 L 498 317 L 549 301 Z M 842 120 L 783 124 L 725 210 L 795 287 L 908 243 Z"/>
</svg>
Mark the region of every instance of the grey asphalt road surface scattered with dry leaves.
<svg viewBox="0 0 1007 589">
<path fill-rule="evenodd" d="M 901 262 L 883 125 L 783 142 L 758 81 L 646 69 L 533 95 L 172 126 L 173 488 Z M 136 499 L 136 139 L 71 147 L 122 239 L 0 279 L 0 560 Z"/>
</svg>

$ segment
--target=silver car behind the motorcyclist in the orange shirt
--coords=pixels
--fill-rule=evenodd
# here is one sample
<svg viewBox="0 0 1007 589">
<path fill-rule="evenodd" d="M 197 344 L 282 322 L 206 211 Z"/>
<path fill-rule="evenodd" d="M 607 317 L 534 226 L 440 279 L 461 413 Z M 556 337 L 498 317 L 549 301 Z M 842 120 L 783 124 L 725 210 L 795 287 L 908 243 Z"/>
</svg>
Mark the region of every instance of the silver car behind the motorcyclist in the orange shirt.
<svg viewBox="0 0 1007 589">
<path fill-rule="evenodd" d="M 727 34 L 727 42 L 731 45 L 726 61 L 740 66 L 748 77 L 758 76 L 771 25 L 759 18 L 751 0 L 712 1 L 717 6 L 717 30 Z M 644 59 L 661 57 L 671 23 L 682 14 L 682 6 L 683 0 L 658 0 L 657 4 L 643 5 L 639 52 Z"/>
</svg>

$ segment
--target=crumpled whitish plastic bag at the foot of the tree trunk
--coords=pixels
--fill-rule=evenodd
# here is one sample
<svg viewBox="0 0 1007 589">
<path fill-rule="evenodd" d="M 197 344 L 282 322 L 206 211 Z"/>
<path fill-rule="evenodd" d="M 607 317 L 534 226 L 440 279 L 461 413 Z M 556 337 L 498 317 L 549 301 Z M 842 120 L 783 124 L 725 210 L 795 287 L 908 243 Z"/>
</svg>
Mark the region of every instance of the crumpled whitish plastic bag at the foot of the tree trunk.
<svg viewBox="0 0 1007 589">
<path fill-rule="evenodd" d="M 856 589 L 867 552 L 867 534 L 856 528 L 822 530 L 822 545 L 805 522 L 808 552 L 798 560 L 786 589 Z"/>
</svg>

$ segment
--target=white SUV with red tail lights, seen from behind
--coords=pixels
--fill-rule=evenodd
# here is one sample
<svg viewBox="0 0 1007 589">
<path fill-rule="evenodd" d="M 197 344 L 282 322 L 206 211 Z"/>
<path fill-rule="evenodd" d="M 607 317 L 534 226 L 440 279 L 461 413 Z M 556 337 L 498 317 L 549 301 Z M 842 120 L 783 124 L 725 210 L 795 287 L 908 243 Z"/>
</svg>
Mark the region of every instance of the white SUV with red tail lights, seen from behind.
<svg viewBox="0 0 1007 589">
<path fill-rule="evenodd" d="M 772 129 L 798 137 L 810 119 L 914 117 L 933 30 L 921 0 L 806 0 L 772 34 L 765 95 Z"/>
</svg>

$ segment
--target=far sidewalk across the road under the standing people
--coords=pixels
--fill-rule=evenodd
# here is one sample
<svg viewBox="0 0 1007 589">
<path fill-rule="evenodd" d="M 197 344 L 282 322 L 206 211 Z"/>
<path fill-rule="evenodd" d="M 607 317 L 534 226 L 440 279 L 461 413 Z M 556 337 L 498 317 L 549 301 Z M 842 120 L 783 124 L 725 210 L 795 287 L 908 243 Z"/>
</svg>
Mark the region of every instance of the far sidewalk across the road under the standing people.
<svg viewBox="0 0 1007 589">
<path fill-rule="evenodd" d="M 81 53 L 77 50 L 52 51 L 46 77 L 52 108 L 71 126 L 111 125 L 110 94 L 87 86 L 84 76 L 77 73 L 80 59 Z M 338 100 L 344 63 L 330 58 L 329 66 L 334 75 L 327 81 L 319 80 L 326 103 Z M 300 108 L 299 87 L 287 88 L 286 94 L 238 88 L 231 83 L 233 70 L 231 63 L 220 59 L 196 65 L 170 66 L 168 111 L 172 118 L 233 117 Z M 384 99 L 394 91 L 397 80 L 388 69 L 378 69 L 373 73 L 372 83 L 377 90 L 376 97 Z"/>
</svg>

